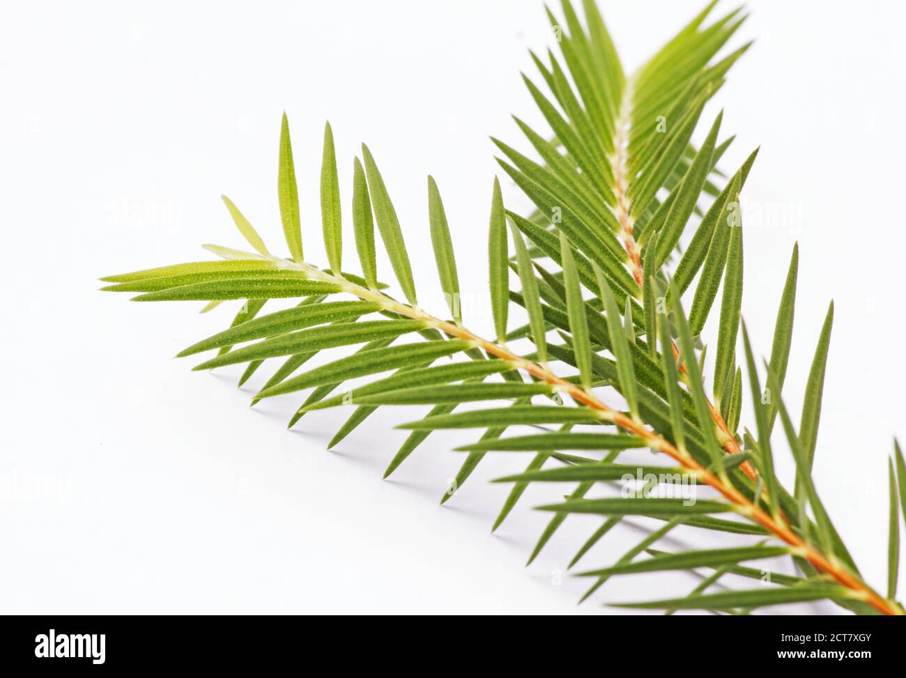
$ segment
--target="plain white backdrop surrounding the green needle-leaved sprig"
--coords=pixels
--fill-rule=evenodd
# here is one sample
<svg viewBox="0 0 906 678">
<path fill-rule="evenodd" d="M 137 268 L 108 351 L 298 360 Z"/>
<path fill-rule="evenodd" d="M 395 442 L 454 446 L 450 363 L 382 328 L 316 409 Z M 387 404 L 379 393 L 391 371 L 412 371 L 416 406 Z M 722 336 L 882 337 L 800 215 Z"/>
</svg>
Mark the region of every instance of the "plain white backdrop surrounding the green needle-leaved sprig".
<svg viewBox="0 0 906 678">
<path fill-rule="evenodd" d="M 604 5 L 632 68 L 700 3 Z M 706 116 L 726 108 L 722 136 L 738 135 L 725 169 L 762 146 L 745 200 L 786 209 L 762 228 L 746 224 L 744 315 L 758 353 L 769 353 L 798 239 L 786 397 L 797 417 L 833 298 L 815 476 L 863 573 L 883 587 L 886 457 L 892 435 L 906 434 L 902 5 L 750 9 L 733 44 L 757 43 Z M 102 275 L 205 258 L 202 242 L 241 246 L 220 193 L 277 247 L 285 110 L 307 258 L 324 260 L 317 176 L 329 119 L 344 206 L 352 156 L 367 140 L 426 305 L 440 310 L 429 294 L 429 172 L 464 297 L 484 295 L 496 171 L 487 135 L 524 149 L 510 112 L 541 127 L 518 73 L 533 72 L 528 48 L 551 45 L 541 4 L 526 0 L 4 4 L 0 612 L 600 614 L 603 602 L 695 586 L 685 574 L 626 577 L 576 607 L 586 582 L 564 576 L 554 586 L 557 568 L 596 518 L 570 518 L 522 567 L 548 518 L 530 507 L 563 488 L 533 490 L 489 535 L 508 488 L 487 479 L 527 459 L 487 460 L 440 508 L 462 460 L 448 450 L 470 433 L 429 438 L 381 481 L 404 439 L 391 427 L 415 410 L 379 413 L 324 451 L 346 411 L 309 414 L 288 432 L 299 398 L 252 410 L 254 389 L 237 390 L 236 371 L 191 373 L 190 360 L 170 358 L 233 309 L 201 316 L 198 304 L 136 305 L 95 291 Z M 465 315 L 489 331 L 486 306 Z M 583 565 L 602 567 L 638 541 L 646 526 L 629 522 Z"/>
</svg>

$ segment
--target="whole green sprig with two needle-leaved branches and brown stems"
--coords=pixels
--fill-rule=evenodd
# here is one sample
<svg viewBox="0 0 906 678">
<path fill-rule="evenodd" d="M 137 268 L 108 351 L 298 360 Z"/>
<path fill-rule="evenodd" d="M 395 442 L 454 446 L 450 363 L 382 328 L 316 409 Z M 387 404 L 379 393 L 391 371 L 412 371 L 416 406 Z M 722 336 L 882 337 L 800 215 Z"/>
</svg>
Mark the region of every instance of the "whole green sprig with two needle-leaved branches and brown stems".
<svg viewBox="0 0 906 678">
<path fill-rule="evenodd" d="M 747 51 L 745 44 L 718 56 L 746 16 L 737 9 L 713 18 L 711 3 L 627 74 L 593 0 L 582 5 L 583 18 L 569 0 L 561 3 L 562 18 L 548 11 L 558 53 L 533 53 L 537 74 L 523 76 L 549 129 L 536 131 L 515 117 L 525 150 L 494 139 L 500 168 L 535 211 L 507 209 L 494 180 L 487 248 L 493 340 L 464 324 L 448 218 L 431 177 L 427 221 L 450 315 L 438 318 L 419 308 L 400 219 L 365 145 L 353 160 L 352 210 L 346 215 L 359 272 L 344 270 L 348 227 L 344 231 L 329 124 L 320 187 L 327 266 L 306 262 L 285 115 L 278 201 L 288 257 L 265 247 L 224 198 L 252 251 L 206 246 L 220 260 L 108 276 L 104 289 L 138 293 L 136 301 L 204 301 L 206 309 L 241 301 L 230 327 L 179 356 L 206 354 L 196 370 L 246 365 L 240 383 L 274 363 L 253 404 L 305 392 L 290 426 L 308 412 L 349 406 L 349 418 L 328 447 L 381 407 L 429 406 L 423 418 L 400 424 L 410 432 L 385 478 L 439 430 L 476 431 L 474 442 L 458 448 L 463 461 L 452 489 L 462 487 L 488 453 L 527 453 L 524 470 L 498 480 L 511 490 L 494 529 L 530 483 L 572 488 L 563 501 L 538 507 L 551 518 L 529 562 L 573 513 L 598 515 L 602 522 L 569 567 L 623 517 L 657 521 L 657 529 L 611 564 L 581 573 L 593 582 L 585 597 L 614 576 L 709 568 L 713 572 L 685 596 L 621 605 L 747 614 L 763 605 L 826 599 L 860 614 L 902 614 L 896 590 L 906 465 L 899 445 L 889 465 L 890 576 L 883 592 L 864 582 L 814 482 L 833 304 L 817 338 L 801 419 L 792 421 L 786 408 L 797 247 L 767 361 L 759 364 L 742 322 L 740 194 L 757 150 L 724 174 L 718 163 L 733 137 L 721 136 L 722 114 L 701 118 Z M 701 126 L 697 146 L 692 138 Z M 379 244 L 390 271 L 378 270 Z M 390 273 L 392 287 L 381 283 Z M 274 309 L 274 300 L 283 298 L 296 303 Z M 513 306 L 525 310 L 527 324 L 511 326 Z M 717 336 L 707 379 L 703 333 L 712 318 Z M 317 366 L 306 365 L 326 352 Z M 363 377 L 370 381 L 349 385 Z M 745 402 L 754 414 L 748 426 L 742 422 Z M 784 453 L 776 449 L 778 419 L 783 447 L 795 461 L 790 489 L 776 475 L 775 454 Z M 664 453 L 670 465 L 620 461 L 639 448 Z M 659 487 L 641 496 L 599 496 L 617 483 L 625 488 L 626 477 L 637 474 L 659 478 Z M 653 491 L 689 482 L 708 485 L 714 498 L 689 501 Z M 446 489 L 441 503 L 450 496 Z M 751 544 L 670 553 L 655 548 L 678 527 L 732 533 Z M 770 573 L 772 586 L 714 590 L 728 576 L 763 578 L 761 565 L 746 564 L 776 557 L 792 558 L 797 574 Z"/>
</svg>

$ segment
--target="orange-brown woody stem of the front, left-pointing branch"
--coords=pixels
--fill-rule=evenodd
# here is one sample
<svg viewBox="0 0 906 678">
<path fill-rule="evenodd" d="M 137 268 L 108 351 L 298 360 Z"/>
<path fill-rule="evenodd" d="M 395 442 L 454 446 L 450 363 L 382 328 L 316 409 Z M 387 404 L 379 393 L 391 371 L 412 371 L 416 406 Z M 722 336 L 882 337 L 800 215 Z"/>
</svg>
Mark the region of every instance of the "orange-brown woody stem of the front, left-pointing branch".
<svg viewBox="0 0 906 678">
<path fill-rule="evenodd" d="M 892 603 L 892 601 L 886 600 L 883 596 L 874 591 L 871 586 L 865 584 L 862 579 L 853 575 L 848 568 L 839 563 L 834 557 L 824 556 L 824 554 L 812 544 L 809 544 L 803 538 L 800 538 L 786 525 L 786 522 L 782 517 L 774 517 L 768 514 L 765 510 L 757 506 L 757 504 L 747 499 L 745 495 L 729 484 L 728 481 L 719 478 L 702 466 L 697 460 L 689 455 L 689 452 L 677 449 L 670 441 L 662 438 L 655 431 L 649 430 L 640 422 L 633 421 L 631 417 L 626 416 L 622 412 L 614 410 L 612 407 L 599 400 L 592 391 L 586 390 L 578 384 L 574 384 L 557 376 L 545 365 L 535 363 L 521 355 L 515 354 L 506 346 L 488 341 L 487 339 L 472 333 L 460 324 L 447 320 L 440 320 L 433 315 L 425 313 L 418 307 L 402 304 L 378 290 L 367 289 L 356 285 L 342 276 L 333 276 L 314 266 L 304 263 L 298 264 L 279 257 L 261 257 L 252 254 L 249 254 L 248 257 L 259 259 L 269 258 L 270 260 L 277 262 L 279 266 L 304 271 L 304 273 L 311 276 L 313 279 L 338 285 L 344 292 L 355 295 L 360 299 L 374 301 L 394 313 L 415 320 L 421 320 L 430 327 L 439 329 L 441 332 L 457 337 L 458 339 L 463 339 L 477 348 L 484 349 L 487 354 L 494 355 L 497 358 L 512 363 L 516 368 L 523 369 L 525 372 L 534 375 L 543 382 L 554 386 L 558 392 L 566 392 L 573 398 L 573 401 L 600 412 L 602 420 L 612 421 L 615 425 L 625 431 L 630 431 L 645 439 L 652 450 L 659 450 L 667 454 L 671 459 L 677 461 L 684 469 L 689 470 L 690 473 L 694 474 L 697 479 L 716 489 L 733 505 L 737 513 L 756 522 L 776 538 L 786 542 L 786 544 L 791 547 L 790 550 L 793 555 L 805 558 L 805 560 L 811 563 L 816 570 L 833 577 L 837 583 L 849 589 L 851 592 L 850 597 L 852 597 L 853 600 L 859 600 L 867 605 L 871 605 L 872 608 L 882 615 L 904 614 L 898 605 Z"/>
</svg>

